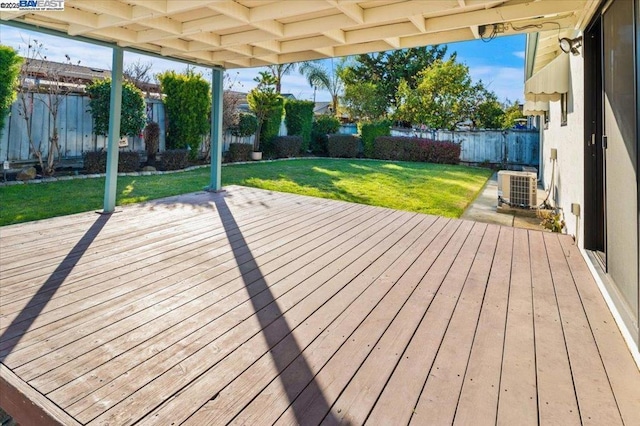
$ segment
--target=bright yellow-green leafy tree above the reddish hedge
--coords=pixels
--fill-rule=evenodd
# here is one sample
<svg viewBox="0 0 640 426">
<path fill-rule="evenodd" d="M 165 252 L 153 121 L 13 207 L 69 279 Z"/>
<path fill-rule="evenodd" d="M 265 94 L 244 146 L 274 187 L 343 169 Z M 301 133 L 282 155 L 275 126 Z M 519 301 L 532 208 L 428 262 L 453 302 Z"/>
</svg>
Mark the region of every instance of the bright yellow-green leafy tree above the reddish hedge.
<svg viewBox="0 0 640 426">
<path fill-rule="evenodd" d="M 437 60 L 418 74 L 416 88 L 406 81 L 398 88 L 397 118 L 423 123 L 432 129 L 453 130 L 473 116 L 474 87 L 469 68 L 454 58 Z"/>
</svg>

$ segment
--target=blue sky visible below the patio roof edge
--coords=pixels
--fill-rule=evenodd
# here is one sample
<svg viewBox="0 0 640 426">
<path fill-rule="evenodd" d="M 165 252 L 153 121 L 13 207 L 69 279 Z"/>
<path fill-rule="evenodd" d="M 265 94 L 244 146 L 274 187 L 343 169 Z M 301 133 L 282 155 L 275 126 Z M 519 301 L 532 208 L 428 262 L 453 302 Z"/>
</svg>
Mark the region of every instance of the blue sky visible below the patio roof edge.
<svg viewBox="0 0 640 426">
<path fill-rule="evenodd" d="M 111 49 L 0 25 L 0 43 L 11 46 L 21 53 L 24 53 L 25 42 L 30 38 L 43 43 L 46 48 L 45 54 L 50 60 L 62 62 L 67 54 L 74 63 L 80 60 L 81 65 L 84 66 L 111 69 Z M 497 37 L 488 43 L 475 40 L 450 43 L 448 46 L 448 52 L 457 52 L 458 61 L 469 67 L 473 80 L 481 79 L 490 90 L 496 93 L 499 100 L 522 101 L 524 97 L 525 46 L 523 35 Z M 170 69 L 183 71 L 186 68 L 184 63 L 125 52 L 125 67 L 127 63 L 137 60 L 152 62 L 154 74 Z M 205 68 L 196 69 L 205 75 L 208 71 Z M 232 69 L 227 72 L 236 82 L 235 90 L 249 91 L 254 87 L 253 78 L 259 71 L 259 68 L 250 68 Z M 292 93 L 298 99 L 313 99 L 313 89 L 309 87 L 306 79 L 298 73 L 283 78 L 282 91 Z M 329 99 L 328 93 L 318 92 L 316 95 L 318 101 L 328 101 Z"/>
</svg>

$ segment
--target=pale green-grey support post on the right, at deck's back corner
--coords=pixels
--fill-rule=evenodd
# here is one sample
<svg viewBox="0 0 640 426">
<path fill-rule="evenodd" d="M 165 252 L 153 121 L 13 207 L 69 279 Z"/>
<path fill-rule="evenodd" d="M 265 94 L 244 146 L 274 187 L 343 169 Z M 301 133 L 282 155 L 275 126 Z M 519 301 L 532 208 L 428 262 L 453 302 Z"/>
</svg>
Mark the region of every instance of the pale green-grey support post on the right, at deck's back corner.
<svg viewBox="0 0 640 426">
<path fill-rule="evenodd" d="M 208 191 L 221 188 L 222 169 L 222 97 L 223 73 L 219 68 L 211 69 L 211 182 Z"/>
</svg>

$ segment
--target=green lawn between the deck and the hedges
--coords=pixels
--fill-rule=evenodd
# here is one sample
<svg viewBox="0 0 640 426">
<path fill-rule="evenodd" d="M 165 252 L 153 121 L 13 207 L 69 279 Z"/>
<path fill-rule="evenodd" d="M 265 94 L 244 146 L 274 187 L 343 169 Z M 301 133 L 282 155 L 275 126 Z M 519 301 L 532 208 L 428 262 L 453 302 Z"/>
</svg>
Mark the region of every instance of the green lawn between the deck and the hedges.
<svg viewBox="0 0 640 426">
<path fill-rule="evenodd" d="M 223 167 L 223 185 L 244 185 L 446 217 L 459 217 L 488 169 L 427 163 L 309 159 Z M 209 169 L 118 178 L 118 205 L 200 191 Z M 0 225 L 100 210 L 104 178 L 0 187 Z"/>
</svg>

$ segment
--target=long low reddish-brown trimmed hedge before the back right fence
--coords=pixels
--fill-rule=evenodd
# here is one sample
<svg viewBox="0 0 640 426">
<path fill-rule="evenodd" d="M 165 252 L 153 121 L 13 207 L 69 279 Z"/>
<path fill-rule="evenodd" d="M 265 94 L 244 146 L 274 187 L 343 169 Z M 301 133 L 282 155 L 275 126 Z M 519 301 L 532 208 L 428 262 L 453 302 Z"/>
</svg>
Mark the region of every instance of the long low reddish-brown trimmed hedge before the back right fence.
<svg viewBox="0 0 640 426">
<path fill-rule="evenodd" d="M 460 145 L 431 139 L 381 136 L 375 140 L 373 156 L 380 160 L 458 164 Z"/>
</svg>

